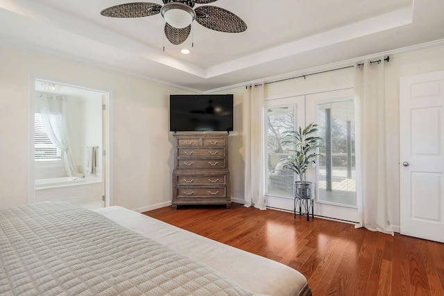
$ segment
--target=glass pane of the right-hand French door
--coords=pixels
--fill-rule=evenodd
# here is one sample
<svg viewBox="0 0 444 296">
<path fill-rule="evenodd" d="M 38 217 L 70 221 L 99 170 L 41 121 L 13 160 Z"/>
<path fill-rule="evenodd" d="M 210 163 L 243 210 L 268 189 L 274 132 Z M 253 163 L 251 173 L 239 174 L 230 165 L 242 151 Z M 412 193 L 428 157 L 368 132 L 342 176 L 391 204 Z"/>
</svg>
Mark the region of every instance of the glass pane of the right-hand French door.
<svg viewBox="0 0 444 296">
<path fill-rule="evenodd" d="M 355 101 L 318 104 L 318 201 L 356 207 Z"/>
</svg>

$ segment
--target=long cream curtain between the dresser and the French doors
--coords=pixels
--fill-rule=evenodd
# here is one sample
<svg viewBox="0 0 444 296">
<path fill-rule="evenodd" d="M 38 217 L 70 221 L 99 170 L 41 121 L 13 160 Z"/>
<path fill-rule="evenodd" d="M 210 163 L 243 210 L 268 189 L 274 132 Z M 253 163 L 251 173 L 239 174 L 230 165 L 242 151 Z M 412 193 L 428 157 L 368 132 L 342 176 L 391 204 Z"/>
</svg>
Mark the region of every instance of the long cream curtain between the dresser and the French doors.
<svg viewBox="0 0 444 296">
<path fill-rule="evenodd" d="M 264 87 L 250 85 L 244 111 L 245 207 L 266 209 L 264 182 Z"/>
</svg>

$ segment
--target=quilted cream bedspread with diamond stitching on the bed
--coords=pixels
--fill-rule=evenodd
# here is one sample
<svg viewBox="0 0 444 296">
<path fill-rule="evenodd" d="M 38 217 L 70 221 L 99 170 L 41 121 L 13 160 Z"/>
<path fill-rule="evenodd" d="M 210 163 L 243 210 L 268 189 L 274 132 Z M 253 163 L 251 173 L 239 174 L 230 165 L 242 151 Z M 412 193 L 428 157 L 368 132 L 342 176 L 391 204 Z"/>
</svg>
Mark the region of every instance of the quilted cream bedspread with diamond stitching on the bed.
<svg viewBox="0 0 444 296">
<path fill-rule="evenodd" d="M 45 202 L 0 210 L 0 295 L 253 293 L 100 214 Z"/>
</svg>

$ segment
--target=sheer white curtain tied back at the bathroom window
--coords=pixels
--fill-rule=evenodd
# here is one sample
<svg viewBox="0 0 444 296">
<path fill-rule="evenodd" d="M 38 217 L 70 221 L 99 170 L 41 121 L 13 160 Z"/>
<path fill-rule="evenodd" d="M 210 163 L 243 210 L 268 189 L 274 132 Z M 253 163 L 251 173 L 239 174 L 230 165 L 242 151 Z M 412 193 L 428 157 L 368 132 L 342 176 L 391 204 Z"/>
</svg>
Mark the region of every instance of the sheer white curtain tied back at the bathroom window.
<svg viewBox="0 0 444 296">
<path fill-rule="evenodd" d="M 37 99 L 36 111 L 42 116 L 44 130 L 48 134 L 49 139 L 63 153 L 62 158 L 67 175 L 69 177 L 83 177 L 83 173 L 78 173 L 72 159 L 65 101 L 65 98 L 61 96 L 42 95 Z M 59 126 L 60 130 L 58 130 Z"/>
</svg>

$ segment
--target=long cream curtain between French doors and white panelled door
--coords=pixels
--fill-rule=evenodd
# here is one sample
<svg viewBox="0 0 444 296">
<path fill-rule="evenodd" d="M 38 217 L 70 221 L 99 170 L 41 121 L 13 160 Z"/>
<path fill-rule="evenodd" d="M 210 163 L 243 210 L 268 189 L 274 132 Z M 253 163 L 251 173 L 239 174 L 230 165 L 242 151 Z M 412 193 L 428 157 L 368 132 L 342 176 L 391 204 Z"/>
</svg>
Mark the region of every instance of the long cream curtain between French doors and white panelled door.
<svg viewBox="0 0 444 296">
<path fill-rule="evenodd" d="M 357 106 L 357 179 L 358 209 L 361 223 L 357 227 L 393 235 L 388 218 L 387 150 L 384 96 L 384 58 L 365 61 L 355 67 Z M 356 65 L 358 66 L 358 65 Z M 360 164 L 360 165 L 359 165 Z"/>
</svg>

